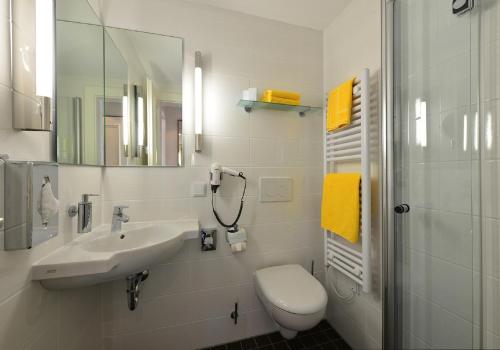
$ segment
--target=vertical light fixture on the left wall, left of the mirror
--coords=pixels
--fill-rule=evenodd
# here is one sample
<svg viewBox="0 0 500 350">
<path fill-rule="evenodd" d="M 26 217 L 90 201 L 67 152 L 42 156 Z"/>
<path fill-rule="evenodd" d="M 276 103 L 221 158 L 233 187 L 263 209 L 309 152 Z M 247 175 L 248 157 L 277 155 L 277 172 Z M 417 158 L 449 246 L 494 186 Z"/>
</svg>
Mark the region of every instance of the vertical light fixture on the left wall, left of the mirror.
<svg viewBox="0 0 500 350">
<path fill-rule="evenodd" d="M 23 3 L 14 6 L 11 1 L 10 5 L 12 126 L 50 131 L 55 86 L 54 0 Z M 26 6 L 29 11 L 21 12 Z"/>
</svg>

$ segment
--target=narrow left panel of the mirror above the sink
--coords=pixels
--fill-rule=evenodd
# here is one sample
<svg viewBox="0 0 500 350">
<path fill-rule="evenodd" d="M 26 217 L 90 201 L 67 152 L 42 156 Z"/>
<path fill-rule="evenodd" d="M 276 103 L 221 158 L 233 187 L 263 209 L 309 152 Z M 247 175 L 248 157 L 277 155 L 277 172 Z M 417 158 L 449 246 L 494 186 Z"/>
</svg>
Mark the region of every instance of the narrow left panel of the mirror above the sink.
<svg viewBox="0 0 500 350">
<path fill-rule="evenodd" d="M 103 165 L 103 28 L 58 20 L 56 33 L 57 160 Z"/>
</svg>

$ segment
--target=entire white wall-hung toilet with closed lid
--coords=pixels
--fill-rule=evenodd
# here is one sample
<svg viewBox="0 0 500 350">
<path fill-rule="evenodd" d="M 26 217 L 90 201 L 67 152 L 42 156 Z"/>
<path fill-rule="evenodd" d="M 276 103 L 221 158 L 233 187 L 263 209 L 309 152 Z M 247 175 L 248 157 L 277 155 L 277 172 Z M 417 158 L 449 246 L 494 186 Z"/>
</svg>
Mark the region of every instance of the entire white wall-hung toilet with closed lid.
<svg viewBox="0 0 500 350">
<path fill-rule="evenodd" d="M 325 288 L 302 266 L 268 267 L 254 276 L 257 295 L 284 338 L 291 339 L 323 319 L 328 301 Z"/>
</svg>

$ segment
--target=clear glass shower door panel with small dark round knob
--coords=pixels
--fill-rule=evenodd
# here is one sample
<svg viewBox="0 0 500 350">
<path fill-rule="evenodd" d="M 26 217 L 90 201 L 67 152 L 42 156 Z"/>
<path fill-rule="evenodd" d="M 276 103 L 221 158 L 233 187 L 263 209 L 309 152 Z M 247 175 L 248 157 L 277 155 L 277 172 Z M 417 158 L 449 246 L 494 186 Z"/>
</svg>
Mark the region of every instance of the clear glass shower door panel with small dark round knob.
<svg viewBox="0 0 500 350">
<path fill-rule="evenodd" d="M 480 346 L 477 9 L 394 3 L 399 346 Z M 407 205 L 407 207 L 402 206 Z"/>
</svg>

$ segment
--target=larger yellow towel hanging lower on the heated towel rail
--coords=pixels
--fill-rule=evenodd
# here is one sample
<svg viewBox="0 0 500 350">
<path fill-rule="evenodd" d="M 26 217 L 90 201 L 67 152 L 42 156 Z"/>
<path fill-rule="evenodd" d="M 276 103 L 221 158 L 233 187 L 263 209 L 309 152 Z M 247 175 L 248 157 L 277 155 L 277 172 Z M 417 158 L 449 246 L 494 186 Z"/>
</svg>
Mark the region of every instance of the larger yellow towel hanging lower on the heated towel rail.
<svg viewBox="0 0 500 350">
<path fill-rule="evenodd" d="M 359 239 L 361 174 L 327 174 L 323 182 L 321 227 L 352 243 Z"/>
</svg>

